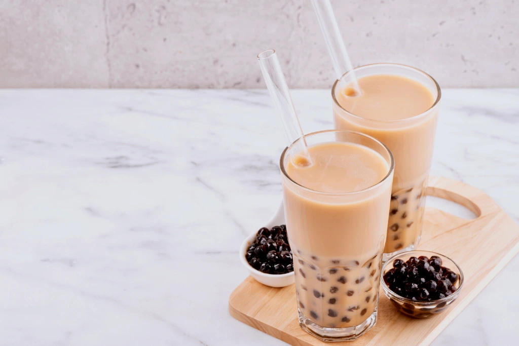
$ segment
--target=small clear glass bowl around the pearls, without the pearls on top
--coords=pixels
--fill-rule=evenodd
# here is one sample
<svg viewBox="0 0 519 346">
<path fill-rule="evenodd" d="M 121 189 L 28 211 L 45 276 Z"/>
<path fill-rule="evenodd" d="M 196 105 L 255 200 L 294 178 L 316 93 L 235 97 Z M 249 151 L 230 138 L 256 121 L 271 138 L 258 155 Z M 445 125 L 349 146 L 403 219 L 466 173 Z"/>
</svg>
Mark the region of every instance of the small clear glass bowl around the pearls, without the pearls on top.
<svg viewBox="0 0 519 346">
<path fill-rule="evenodd" d="M 456 292 L 442 299 L 431 300 L 431 301 L 414 301 L 411 299 L 404 298 L 394 293 L 384 282 L 384 274 L 386 274 L 390 269 L 393 268 L 393 261 L 395 259 L 401 259 L 404 262 L 407 261 L 410 257 L 420 257 L 427 256 L 431 258 L 431 256 L 438 256 L 442 259 L 442 267 L 449 268 L 451 271 L 458 274 L 458 281 L 454 285 L 456 287 Z M 406 251 L 395 255 L 389 258 L 384 266 L 382 267 L 382 275 L 380 277 L 382 288 L 384 289 L 384 294 L 386 297 L 391 300 L 393 305 L 397 307 L 397 309 L 407 315 L 414 317 L 415 319 L 427 319 L 435 314 L 439 314 L 447 309 L 447 307 L 458 298 L 461 287 L 463 286 L 463 272 L 458 267 L 458 265 L 447 256 L 431 252 L 431 251 Z"/>
</svg>

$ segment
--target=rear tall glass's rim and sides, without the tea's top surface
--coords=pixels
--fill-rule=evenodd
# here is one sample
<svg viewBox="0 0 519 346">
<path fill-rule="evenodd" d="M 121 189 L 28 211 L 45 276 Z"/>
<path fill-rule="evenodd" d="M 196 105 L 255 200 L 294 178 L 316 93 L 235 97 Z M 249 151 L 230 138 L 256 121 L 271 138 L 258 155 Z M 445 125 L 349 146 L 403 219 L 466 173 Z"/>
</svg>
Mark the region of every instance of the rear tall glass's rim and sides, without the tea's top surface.
<svg viewBox="0 0 519 346">
<path fill-rule="evenodd" d="M 427 73 L 399 64 L 372 64 L 354 69 L 360 80 L 370 75 L 398 75 L 418 81 L 435 100 L 422 114 L 402 120 L 372 120 L 352 114 L 339 103 L 350 81 L 348 73 L 332 88 L 335 128 L 366 133 L 387 145 L 394 156 L 395 168 L 384 261 L 413 250 L 420 241 L 424 221 L 427 178 L 431 167 L 441 90 Z M 381 109 L 380 112 L 384 112 Z"/>
</svg>

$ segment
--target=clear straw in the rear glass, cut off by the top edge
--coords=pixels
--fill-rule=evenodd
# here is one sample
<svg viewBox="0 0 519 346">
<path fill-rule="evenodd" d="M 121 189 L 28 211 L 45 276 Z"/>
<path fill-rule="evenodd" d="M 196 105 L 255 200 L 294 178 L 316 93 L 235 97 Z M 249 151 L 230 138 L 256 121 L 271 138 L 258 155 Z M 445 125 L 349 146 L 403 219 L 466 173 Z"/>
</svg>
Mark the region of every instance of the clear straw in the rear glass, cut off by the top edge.
<svg viewBox="0 0 519 346">
<path fill-rule="evenodd" d="M 330 0 L 311 0 L 311 2 L 313 9 L 316 11 L 317 20 L 319 21 L 326 47 L 328 47 L 330 58 L 332 58 L 333 69 L 337 79 L 340 79 L 346 72 L 350 71 L 348 76 L 350 77 L 351 85 L 355 93 L 360 95 L 359 82 L 355 77 L 353 66 L 344 46 L 343 37 L 340 35 Z"/>
</svg>

